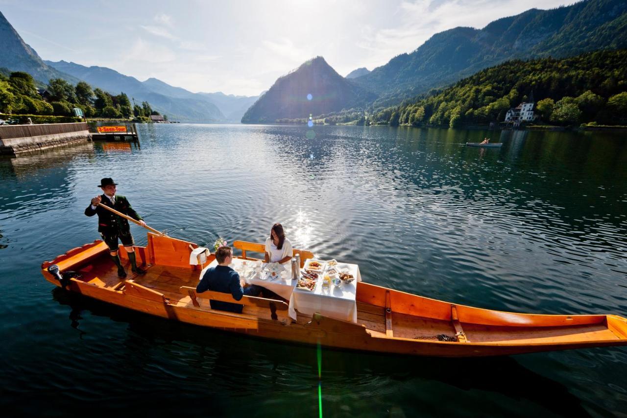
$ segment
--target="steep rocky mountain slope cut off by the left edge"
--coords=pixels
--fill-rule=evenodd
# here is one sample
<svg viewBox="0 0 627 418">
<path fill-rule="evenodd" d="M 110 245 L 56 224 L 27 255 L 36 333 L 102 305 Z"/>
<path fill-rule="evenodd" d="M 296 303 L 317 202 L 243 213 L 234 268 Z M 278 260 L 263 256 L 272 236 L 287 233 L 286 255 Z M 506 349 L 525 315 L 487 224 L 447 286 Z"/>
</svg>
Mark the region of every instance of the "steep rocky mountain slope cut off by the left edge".
<svg viewBox="0 0 627 418">
<path fill-rule="evenodd" d="M 10 71 L 29 73 L 36 80 L 48 82 L 50 78 L 63 78 L 70 83 L 78 83 L 76 77 L 60 72 L 46 65 L 40 56 L 31 48 L 11 23 L 0 12 L 0 67 Z"/>
</svg>

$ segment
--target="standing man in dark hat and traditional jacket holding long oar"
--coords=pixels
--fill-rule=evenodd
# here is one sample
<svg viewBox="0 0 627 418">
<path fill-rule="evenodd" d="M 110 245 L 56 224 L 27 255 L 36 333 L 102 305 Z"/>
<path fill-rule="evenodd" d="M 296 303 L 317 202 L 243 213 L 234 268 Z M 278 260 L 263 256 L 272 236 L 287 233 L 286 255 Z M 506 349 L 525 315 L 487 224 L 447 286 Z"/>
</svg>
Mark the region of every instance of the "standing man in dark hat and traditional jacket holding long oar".
<svg viewBox="0 0 627 418">
<path fill-rule="evenodd" d="M 109 206 L 118 212 L 122 212 L 125 215 L 138 220 L 142 227 L 146 225 L 144 220 L 142 220 L 142 217 L 140 217 L 130 206 L 129 201 L 126 200 L 124 196 L 115 194 L 115 186 L 117 186 L 117 183 L 113 183 L 113 179 L 110 177 L 105 177 L 100 180 L 100 186 L 98 187 L 100 187 L 105 193 L 92 199 L 92 204 L 87 206 L 87 209 L 85 209 L 85 215 L 88 217 L 93 217 L 93 215 L 96 214 L 98 215 L 98 232 L 100 232 L 103 241 L 109 247 L 111 259 L 118 267 L 118 276 L 121 278 L 126 277 L 126 272 L 124 271 L 124 267 L 122 267 L 120 256 L 118 255 L 118 239 L 122 241 L 124 249 L 129 254 L 132 271 L 135 274 L 144 274 L 145 271 L 137 267 L 135 249 L 133 248 L 135 242 L 133 240 L 133 235 L 130 235 L 129 221 L 119 215 L 115 215 L 115 213 L 110 212 L 105 208 L 98 206 L 98 203 L 102 203 L 105 206 Z"/>
</svg>

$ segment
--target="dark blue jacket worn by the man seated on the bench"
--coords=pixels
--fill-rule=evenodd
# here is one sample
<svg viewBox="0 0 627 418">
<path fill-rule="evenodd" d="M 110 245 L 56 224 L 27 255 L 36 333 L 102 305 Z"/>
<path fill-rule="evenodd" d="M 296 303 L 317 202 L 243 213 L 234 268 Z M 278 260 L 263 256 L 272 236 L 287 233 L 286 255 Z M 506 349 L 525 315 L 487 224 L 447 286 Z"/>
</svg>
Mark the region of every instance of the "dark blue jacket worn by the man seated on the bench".
<svg viewBox="0 0 627 418">
<path fill-rule="evenodd" d="M 207 269 L 200 283 L 196 286 L 196 292 L 202 293 L 208 290 L 230 293 L 236 301 L 239 301 L 241 297 L 244 296 L 244 289 L 242 289 L 240 285 L 240 275 L 227 265 L 216 265 L 216 267 Z M 236 303 L 214 301 L 211 299 L 209 299 L 209 303 L 211 303 L 211 309 L 235 313 L 241 313 L 244 307 Z"/>
</svg>

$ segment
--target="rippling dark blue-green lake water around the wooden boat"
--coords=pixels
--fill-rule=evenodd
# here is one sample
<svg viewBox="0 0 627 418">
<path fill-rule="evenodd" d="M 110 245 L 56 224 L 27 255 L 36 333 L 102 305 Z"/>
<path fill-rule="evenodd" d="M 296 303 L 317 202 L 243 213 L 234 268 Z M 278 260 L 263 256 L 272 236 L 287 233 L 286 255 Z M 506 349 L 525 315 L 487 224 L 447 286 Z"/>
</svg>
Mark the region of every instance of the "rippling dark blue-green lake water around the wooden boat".
<svg viewBox="0 0 627 418">
<path fill-rule="evenodd" d="M 147 223 L 357 263 L 364 281 L 488 309 L 627 316 L 623 133 L 143 125 L 141 146 L 0 159 L 0 405 L 290 417 L 624 416 L 627 348 L 386 356 L 258 340 L 67 294 L 40 264 L 100 238 L 113 177 Z M 500 149 L 465 147 L 483 137 Z M 145 230 L 132 226 L 137 244 Z M 320 367 L 320 368 L 319 368 Z M 320 378 L 319 378 L 320 370 Z"/>
</svg>

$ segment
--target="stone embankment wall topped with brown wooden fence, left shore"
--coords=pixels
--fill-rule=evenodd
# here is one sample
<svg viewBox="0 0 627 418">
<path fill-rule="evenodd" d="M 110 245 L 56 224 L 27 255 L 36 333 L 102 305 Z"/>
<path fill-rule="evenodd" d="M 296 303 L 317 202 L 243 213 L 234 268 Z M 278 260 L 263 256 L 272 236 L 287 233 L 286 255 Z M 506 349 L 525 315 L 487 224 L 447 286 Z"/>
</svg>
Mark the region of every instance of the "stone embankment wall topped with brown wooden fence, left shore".
<svg viewBox="0 0 627 418">
<path fill-rule="evenodd" d="M 84 122 L 0 126 L 0 154 L 18 155 L 90 141 Z"/>
</svg>

